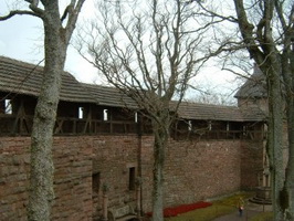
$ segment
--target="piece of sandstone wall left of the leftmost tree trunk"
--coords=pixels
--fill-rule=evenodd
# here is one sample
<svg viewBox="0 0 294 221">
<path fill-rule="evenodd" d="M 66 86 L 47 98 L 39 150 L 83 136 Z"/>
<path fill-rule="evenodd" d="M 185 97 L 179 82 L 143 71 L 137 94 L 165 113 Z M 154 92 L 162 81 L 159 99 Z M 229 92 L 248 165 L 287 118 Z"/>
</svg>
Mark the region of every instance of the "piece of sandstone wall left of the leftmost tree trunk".
<svg viewBox="0 0 294 221">
<path fill-rule="evenodd" d="M 0 220 L 27 220 L 29 138 L 0 138 Z"/>
</svg>

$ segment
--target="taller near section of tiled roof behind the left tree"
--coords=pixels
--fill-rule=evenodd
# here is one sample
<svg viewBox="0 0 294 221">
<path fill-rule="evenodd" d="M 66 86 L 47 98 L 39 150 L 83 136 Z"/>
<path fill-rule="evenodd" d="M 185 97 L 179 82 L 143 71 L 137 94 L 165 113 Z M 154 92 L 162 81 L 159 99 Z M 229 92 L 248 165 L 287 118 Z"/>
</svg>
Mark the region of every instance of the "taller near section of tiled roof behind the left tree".
<svg viewBox="0 0 294 221">
<path fill-rule="evenodd" d="M 0 56 L 0 90 L 39 96 L 43 67 Z M 62 73 L 61 101 L 95 103 L 73 75 Z"/>
</svg>

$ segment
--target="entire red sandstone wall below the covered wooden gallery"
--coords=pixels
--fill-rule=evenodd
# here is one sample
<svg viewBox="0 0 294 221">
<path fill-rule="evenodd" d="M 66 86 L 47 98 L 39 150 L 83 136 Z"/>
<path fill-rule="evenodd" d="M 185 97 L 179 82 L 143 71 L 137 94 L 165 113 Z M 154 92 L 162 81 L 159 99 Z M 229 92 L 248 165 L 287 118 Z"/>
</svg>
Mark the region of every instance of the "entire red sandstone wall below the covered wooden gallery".
<svg viewBox="0 0 294 221">
<path fill-rule="evenodd" d="M 254 185 L 249 181 L 254 180 L 254 175 L 248 175 L 260 164 L 255 160 L 260 157 L 259 145 L 240 140 L 170 139 L 166 150 L 165 207 L 228 194 Z M 0 137 L 0 221 L 27 220 L 29 146 L 28 137 Z M 150 136 L 55 137 L 53 151 L 56 199 L 52 220 L 96 220 L 102 214 L 105 185 L 111 210 L 127 204 L 135 208 L 136 191 L 129 190 L 128 185 L 130 168 L 138 172 L 139 156 L 141 203 L 145 212 L 150 211 Z M 97 183 L 92 186 L 92 179 Z"/>
</svg>

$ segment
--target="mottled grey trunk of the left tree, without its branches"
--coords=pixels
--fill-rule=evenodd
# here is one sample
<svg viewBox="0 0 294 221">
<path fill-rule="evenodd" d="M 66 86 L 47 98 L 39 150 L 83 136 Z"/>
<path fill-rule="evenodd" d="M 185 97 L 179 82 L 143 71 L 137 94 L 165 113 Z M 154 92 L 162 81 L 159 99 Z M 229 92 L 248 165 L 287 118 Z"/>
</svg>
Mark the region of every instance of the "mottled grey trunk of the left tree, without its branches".
<svg viewBox="0 0 294 221">
<path fill-rule="evenodd" d="M 54 21 L 57 19 L 57 21 Z M 48 22 L 48 23 L 46 23 Z M 53 190 L 52 141 L 57 104 L 60 98 L 61 75 L 65 62 L 66 46 L 61 40 L 60 19 L 49 18 L 45 29 L 45 66 L 42 88 L 38 99 L 33 131 L 31 135 L 31 177 L 29 220 L 50 220 Z"/>
</svg>

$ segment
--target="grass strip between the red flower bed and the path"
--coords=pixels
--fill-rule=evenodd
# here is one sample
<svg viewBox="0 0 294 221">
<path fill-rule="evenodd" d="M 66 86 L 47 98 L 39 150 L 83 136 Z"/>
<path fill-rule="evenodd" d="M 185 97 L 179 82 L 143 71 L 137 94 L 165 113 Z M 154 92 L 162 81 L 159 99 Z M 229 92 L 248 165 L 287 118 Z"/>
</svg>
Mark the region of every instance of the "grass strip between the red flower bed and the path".
<svg viewBox="0 0 294 221">
<path fill-rule="evenodd" d="M 211 207 L 197 209 L 172 218 L 165 218 L 165 221 L 210 221 L 218 217 L 238 211 L 237 204 L 240 197 L 248 199 L 251 196 L 248 193 L 234 194 L 232 197 L 213 201 Z"/>
</svg>

